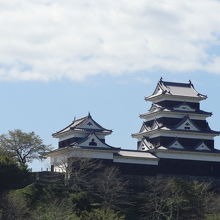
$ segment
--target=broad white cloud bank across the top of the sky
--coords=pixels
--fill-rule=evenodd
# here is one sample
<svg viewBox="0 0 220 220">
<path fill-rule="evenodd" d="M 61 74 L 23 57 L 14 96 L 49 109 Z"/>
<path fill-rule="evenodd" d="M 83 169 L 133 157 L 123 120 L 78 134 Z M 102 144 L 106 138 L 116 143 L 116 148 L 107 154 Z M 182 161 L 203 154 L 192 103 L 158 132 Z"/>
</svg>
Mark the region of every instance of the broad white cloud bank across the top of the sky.
<svg viewBox="0 0 220 220">
<path fill-rule="evenodd" d="M 0 80 L 220 73 L 217 0 L 0 0 Z M 219 53 L 220 54 L 220 53 Z"/>
</svg>

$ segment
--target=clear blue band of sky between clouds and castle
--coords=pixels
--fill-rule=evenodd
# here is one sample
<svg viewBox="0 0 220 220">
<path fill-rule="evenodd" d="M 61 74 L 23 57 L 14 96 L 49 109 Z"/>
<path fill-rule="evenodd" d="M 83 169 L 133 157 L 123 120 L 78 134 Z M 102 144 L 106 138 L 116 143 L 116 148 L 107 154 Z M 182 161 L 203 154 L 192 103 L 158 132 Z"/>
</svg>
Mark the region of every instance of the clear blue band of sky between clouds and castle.
<svg viewBox="0 0 220 220">
<path fill-rule="evenodd" d="M 136 76 L 148 80 L 137 80 Z M 108 129 L 107 137 L 112 146 L 136 149 L 136 140 L 130 134 L 140 129 L 142 120 L 138 115 L 148 110 L 150 103 L 144 96 L 150 95 L 159 78 L 187 82 L 191 79 L 196 89 L 208 95 L 201 104 L 202 109 L 213 112 L 208 119 L 211 128 L 220 130 L 219 76 L 207 73 L 185 73 L 180 75 L 136 73 L 126 77 L 95 76 L 85 82 L 2 82 L 1 133 L 20 128 L 35 131 L 46 144 L 57 147 L 51 134 L 64 128 L 76 116 L 84 117 L 91 112 L 93 118 Z M 147 82 L 146 82 L 147 81 Z M 216 138 L 220 149 L 220 137 Z M 33 170 L 46 169 L 48 162 L 35 162 Z"/>
</svg>

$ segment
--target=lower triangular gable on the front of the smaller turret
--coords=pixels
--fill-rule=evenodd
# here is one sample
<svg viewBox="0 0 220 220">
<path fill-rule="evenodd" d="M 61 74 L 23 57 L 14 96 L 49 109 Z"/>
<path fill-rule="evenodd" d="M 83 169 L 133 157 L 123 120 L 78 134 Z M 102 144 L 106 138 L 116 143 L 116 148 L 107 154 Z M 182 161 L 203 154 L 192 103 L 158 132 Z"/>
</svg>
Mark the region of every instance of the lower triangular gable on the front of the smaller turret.
<svg viewBox="0 0 220 220">
<path fill-rule="evenodd" d="M 120 149 L 117 147 L 112 147 L 102 140 L 94 133 L 90 133 L 87 137 L 83 138 L 80 142 L 73 143 L 71 146 L 77 146 L 81 148 L 99 148 L 99 149 L 106 149 L 106 148 L 112 148 L 112 149 Z"/>
</svg>

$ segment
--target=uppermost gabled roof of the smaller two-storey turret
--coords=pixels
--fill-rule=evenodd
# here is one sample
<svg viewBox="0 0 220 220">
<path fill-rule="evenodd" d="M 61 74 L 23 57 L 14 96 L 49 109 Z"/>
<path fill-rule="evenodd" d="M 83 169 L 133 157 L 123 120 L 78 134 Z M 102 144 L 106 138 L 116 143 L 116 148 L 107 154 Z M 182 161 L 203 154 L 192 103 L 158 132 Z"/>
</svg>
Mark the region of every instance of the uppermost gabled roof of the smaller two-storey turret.
<svg viewBox="0 0 220 220">
<path fill-rule="evenodd" d="M 52 134 L 53 137 L 59 137 L 60 135 L 62 135 L 63 133 L 69 132 L 71 130 L 75 130 L 75 131 L 95 131 L 95 132 L 101 132 L 104 134 L 111 134 L 112 130 L 103 128 L 101 125 L 99 125 L 96 121 L 94 121 L 94 119 L 92 118 L 92 116 L 90 115 L 90 113 L 88 114 L 88 116 L 77 119 L 68 125 L 67 127 L 63 128 L 60 131 L 57 131 L 55 133 Z"/>
</svg>

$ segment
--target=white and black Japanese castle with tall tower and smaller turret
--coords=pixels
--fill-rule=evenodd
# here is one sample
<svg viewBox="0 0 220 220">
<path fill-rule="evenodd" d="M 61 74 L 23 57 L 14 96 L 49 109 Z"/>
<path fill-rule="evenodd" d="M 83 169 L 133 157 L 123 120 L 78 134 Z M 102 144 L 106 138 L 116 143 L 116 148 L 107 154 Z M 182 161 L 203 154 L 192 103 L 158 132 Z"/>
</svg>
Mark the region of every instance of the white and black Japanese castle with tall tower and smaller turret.
<svg viewBox="0 0 220 220">
<path fill-rule="evenodd" d="M 137 149 L 128 150 L 106 143 L 112 130 L 99 125 L 90 114 L 74 120 L 53 134 L 58 149 L 48 153 L 51 170 L 62 172 L 70 158 L 92 158 L 114 164 L 131 175 L 220 176 L 220 151 L 214 147 L 213 131 L 206 120 L 211 112 L 200 109 L 207 96 L 189 83 L 166 82 L 162 78 L 151 96 L 152 102 L 139 132 Z"/>
</svg>

